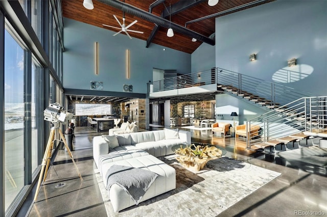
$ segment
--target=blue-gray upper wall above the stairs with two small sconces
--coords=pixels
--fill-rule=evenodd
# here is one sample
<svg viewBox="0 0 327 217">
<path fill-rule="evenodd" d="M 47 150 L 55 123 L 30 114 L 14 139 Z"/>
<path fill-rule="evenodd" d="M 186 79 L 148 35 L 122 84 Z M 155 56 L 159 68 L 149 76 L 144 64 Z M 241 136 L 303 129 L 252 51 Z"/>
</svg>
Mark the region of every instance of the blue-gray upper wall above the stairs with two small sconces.
<svg viewBox="0 0 327 217">
<path fill-rule="evenodd" d="M 327 95 L 326 60 L 327 1 L 278 0 L 216 18 L 216 67 Z"/>
</svg>

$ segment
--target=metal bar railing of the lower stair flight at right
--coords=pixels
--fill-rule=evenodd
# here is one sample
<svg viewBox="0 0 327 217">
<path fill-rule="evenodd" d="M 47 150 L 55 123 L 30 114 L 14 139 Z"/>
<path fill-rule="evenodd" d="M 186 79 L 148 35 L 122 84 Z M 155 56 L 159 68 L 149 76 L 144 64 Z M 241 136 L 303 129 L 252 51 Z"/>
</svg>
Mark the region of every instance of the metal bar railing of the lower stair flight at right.
<svg viewBox="0 0 327 217">
<path fill-rule="evenodd" d="M 302 131 L 327 128 L 327 96 L 302 97 L 246 122 L 246 130 L 260 126 L 261 136 L 249 134 L 247 148 Z"/>
</svg>

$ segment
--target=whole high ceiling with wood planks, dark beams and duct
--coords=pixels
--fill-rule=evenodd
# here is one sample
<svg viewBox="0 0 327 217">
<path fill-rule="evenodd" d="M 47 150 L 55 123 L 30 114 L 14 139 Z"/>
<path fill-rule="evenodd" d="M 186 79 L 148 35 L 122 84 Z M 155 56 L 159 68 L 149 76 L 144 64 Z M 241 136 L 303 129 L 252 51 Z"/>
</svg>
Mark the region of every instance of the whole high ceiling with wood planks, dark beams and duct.
<svg viewBox="0 0 327 217">
<path fill-rule="evenodd" d="M 192 53 L 203 42 L 215 44 L 215 17 L 272 1 L 274 0 L 219 0 L 216 6 L 211 7 L 207 0 L 93 0 L 94 9 L 88 10 L 83 7 L 83 0 L 62 0 L 62 11 L 66 18 L 118 32 L 103 24 L 119 27 L 113 15 L 122 23 L 124 10 L 126 25 L 137 20 L 129 30 L 144 32 L 128 33 L 132 38 L 146 41 L 146 47 L 151 47 L 154 43 Z M 174 30 L 171 38 L 167 37 L 170 26 Z M 124 32 L 120 34 L 128 37 Z M 108 37 L 114 37 L 112 32 L 108 31 Z M 192 38 L 197 41 L 192 42 Z"/>
</svg>

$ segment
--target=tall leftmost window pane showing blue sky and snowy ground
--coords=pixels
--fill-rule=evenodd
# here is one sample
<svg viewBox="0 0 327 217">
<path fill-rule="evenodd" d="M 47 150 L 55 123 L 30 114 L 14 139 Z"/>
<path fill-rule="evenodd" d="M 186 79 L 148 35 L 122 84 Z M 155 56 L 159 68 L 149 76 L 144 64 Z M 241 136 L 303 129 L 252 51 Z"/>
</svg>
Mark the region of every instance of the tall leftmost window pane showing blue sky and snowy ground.
<svg viewBox="0 0 327 217">
<path fill-rule="evenodd" d="M 5 208 L 24 186 L 24 50 L 5 30 Z"/>
</svg>

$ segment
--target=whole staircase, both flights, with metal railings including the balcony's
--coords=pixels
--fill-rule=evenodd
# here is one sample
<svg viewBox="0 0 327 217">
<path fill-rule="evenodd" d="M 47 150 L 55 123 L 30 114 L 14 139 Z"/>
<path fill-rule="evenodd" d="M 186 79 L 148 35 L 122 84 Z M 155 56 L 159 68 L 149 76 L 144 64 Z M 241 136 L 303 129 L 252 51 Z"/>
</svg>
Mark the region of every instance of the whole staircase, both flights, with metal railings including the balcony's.
<svg viewBox="0 0 327 217">
<path fill-rule="evenodd" d="M 287 75 L 292 80 L 291 74 Z M 283 80 L 283 78 L 278 78 Z M 148 93 L 217 84 L 217 91 L 260 106 L 268 112 L 246 122 L 260 126 L 260 135 L 247 135 L 248 149 L 287 145 L 310 137 L 327 137 L 327 96 L 295 90 L 222 68 L 148 83 Z"/>
</svg>

